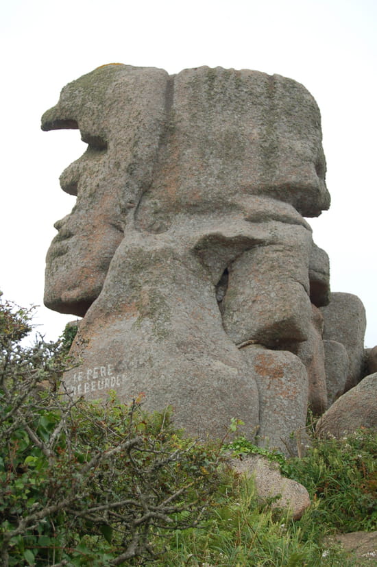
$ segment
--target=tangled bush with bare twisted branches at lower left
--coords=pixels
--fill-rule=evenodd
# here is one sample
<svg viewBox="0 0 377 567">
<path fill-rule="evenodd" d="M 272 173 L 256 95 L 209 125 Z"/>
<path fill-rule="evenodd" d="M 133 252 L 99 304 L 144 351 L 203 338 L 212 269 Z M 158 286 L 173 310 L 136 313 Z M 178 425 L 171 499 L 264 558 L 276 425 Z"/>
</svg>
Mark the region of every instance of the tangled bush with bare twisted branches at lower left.
<svg viewBox="0 0 377 567">
<path fill-rule="evenodd" d="M 56 392 L 59 345 L 19 344 L 29 313 L 0 313 L 0 544 L 6 565 L 118 565 L 154 557 L 158 530 L 194 526 L 217 481 L 217 453 L 169 412 Z M 63 349 L 64 350 L 64 349 Z M 61 356 L 62 355 L 62 356 Z"/>
</svg>

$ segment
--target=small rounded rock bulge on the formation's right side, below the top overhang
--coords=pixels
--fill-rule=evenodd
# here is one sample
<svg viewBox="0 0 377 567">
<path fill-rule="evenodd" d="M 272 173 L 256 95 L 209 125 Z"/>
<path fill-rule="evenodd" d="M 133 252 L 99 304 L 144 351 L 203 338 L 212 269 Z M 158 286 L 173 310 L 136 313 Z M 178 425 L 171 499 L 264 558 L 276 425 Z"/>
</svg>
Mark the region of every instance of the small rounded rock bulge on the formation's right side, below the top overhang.
<svg viewBox="0 0 377 567">
<path fill-rule="evenodd" d="M 311 282 L 311 302 L 323 307 L 330 302 L 330 261 L 328 254 L 315 243 L 309 258 L 309 280 Z"/>
</svg>

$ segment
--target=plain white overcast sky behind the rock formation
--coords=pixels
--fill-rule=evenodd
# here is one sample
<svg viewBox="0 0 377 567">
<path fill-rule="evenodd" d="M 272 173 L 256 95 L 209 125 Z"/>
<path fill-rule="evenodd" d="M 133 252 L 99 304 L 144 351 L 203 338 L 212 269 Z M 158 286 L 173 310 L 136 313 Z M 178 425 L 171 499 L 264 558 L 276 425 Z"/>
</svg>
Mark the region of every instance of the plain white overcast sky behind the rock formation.
<svg viewBox="0 0 377 567">
<path fill-rule="evenodd" d="M 40 130 L 67 82 L 110 62 L 256 69 L 301 82 L 321 109 L 332 206 L 310 223 L 332 291 L 361 298 L 377 344 L 375 0 L 8 0 L 0 15 L 5 298 L 42 305 L 53 223 L 74 204 L 58 178 L 86 146 Z M 35 322 L 55 339 L 71 319 L 40 307 Z"/>
</svg>

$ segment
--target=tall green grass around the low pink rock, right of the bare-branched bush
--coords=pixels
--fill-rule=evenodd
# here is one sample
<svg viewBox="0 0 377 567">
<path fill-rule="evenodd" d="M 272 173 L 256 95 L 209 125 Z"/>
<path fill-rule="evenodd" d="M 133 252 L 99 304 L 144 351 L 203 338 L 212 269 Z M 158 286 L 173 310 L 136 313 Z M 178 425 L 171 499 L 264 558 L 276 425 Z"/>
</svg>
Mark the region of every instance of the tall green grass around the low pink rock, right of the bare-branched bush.
<svg viewBox="0 0 377 567">
<path fill-rule="evenodd" d="M 201 526 L 167 538 L 157 564 L 177 567 L 353 566 L 328 544 L 336 531 L 376 529 L 377 434 L 314 439 L 303 459 L 287 459 L 284 473 L 304 484 L 312 505 L 293 522 L 287 512 L 258 501 L 252 479 L 224 473 Z M 163 537 L 163 534 L 160 534 Z"/>
</svg>

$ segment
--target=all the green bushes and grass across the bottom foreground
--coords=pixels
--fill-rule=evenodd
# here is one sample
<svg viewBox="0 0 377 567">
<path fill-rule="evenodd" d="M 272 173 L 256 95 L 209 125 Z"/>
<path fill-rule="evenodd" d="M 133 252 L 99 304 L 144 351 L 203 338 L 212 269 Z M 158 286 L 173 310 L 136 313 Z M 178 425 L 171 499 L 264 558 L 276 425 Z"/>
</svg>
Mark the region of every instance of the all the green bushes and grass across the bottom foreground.
<svg viewBox="0 0 377 567">
<path fill-rule="evenodd" d="M 30 315 L 0 303 L 1 565 L 354 564 L 325 538 L 376 529 L 376 433 L 314 439 L 304 458 L 284 459 L 242 437 L 228 446 L 186 439 L 169 409 L 146 415 L 142 399 L 64 399 L 75 330 L 23 346 Z M 252 480 L 228 470 L 230 451 L 278 462 L 307 487 L 311 508 L 293 522 L 260 503 Z"/>
</svg>

